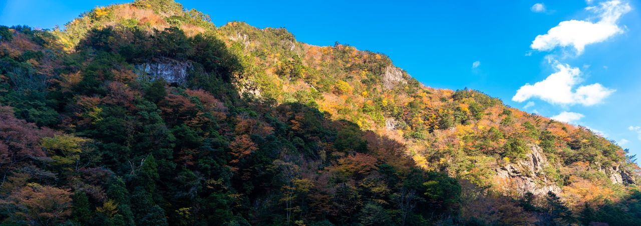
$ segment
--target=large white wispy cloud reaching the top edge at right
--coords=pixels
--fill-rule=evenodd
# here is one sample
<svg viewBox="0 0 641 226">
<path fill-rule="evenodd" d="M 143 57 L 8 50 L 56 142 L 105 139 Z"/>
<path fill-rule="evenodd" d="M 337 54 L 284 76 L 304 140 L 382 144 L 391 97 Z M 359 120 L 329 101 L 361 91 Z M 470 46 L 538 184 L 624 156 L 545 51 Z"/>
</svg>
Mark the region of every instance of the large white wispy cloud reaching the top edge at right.
<svg viewBox="0 0 641 226">
<path fill-rule="evenodd" d="M 623 33 L 623 30 L 617 25 L 617 21 L 621 15 L 631 9 L 628 3 L 621 3 L 618 0 L 587 7 L 585 10 L 594 12 L 598 21 L 562 21 L 547 31 L 545 35 L 537 35 L 530 48 L 549 51 L 558 46 L 572 46 L 580 55 L 588 44 L 603 42 L 613 35 Z"/>
</svg>

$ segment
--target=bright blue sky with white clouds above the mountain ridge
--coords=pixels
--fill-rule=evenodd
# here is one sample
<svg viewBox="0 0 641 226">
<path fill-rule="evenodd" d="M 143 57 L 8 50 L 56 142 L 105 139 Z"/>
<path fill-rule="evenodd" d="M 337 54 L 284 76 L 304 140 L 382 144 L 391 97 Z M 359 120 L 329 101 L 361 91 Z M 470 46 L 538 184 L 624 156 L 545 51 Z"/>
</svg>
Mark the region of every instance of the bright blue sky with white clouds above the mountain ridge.
<svg viewBox="0 0 641 226">
<path fill-rule="evenodd" d="M 126 2 L 0 0 L 0 24 L 53 28 Z M 430 87 L 478 89 L 641 154 L 640 1 L 179 2 L 217 26 L 285 27 L 301 42 L 385 53 Z"/>
</svg>

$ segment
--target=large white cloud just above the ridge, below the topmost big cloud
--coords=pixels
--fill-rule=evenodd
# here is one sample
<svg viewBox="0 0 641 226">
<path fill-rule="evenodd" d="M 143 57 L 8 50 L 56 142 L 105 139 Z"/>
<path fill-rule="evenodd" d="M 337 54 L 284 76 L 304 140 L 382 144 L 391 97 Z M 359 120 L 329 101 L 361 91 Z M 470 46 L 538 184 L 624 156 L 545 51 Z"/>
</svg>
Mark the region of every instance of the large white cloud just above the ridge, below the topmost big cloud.
<svg viewBox="0 0 641 226">
<path fill-rule="evenodd" d="M 570 65 L 559 62 L 554 64 L 555 73 L 550 74 L 543 81 L 534 83 L 534 85 L 523 85 L 512 97 L 512 100 L 523 102 L 530 98 L 540 98 L 553 104 L 590 106 L 601 103 L 612 92 L 615 92 L 615 90 L 603 87 L 599 83 L 581 85 L 575 90 L 574 87 L 581 82 L 581 70 L 578 67 L 570 67 Z"/>
</svg>

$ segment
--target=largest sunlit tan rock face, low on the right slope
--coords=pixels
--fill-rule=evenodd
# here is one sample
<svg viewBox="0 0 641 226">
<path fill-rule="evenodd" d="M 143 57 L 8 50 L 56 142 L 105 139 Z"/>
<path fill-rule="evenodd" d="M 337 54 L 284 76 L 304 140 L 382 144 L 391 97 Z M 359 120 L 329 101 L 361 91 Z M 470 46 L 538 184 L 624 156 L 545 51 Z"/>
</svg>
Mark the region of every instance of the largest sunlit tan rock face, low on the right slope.
<svg viewBox="0 0 641 226">
<path fill-rule="evenodd" d="M 503 186 L 507 186 L 504 189 L 516 191 L 518 195 L 528 192 L 545 195 L 548 191 L 561 193 L 561 187 L 548 181 L 542 172 L 548 162 L 541 147 L 531 144 L 529 148 L 531 152 L 525 159 L 496 169 L 496 177 L 503 181 Z"/>
</svg>

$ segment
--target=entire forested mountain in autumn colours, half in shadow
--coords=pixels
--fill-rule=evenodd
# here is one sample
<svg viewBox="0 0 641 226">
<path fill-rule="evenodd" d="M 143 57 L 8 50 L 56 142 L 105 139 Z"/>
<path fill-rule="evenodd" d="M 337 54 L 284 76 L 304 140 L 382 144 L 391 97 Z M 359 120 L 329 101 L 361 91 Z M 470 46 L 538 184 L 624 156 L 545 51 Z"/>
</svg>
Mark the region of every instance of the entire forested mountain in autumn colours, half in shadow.
<svg viewBox="0 0 641 226">
<path fill-rule="evenodd" d="M 3 224 L 641 224 L 617 144 L 381 53 L 171 0 L 0 37 Z"/>
</svg>

